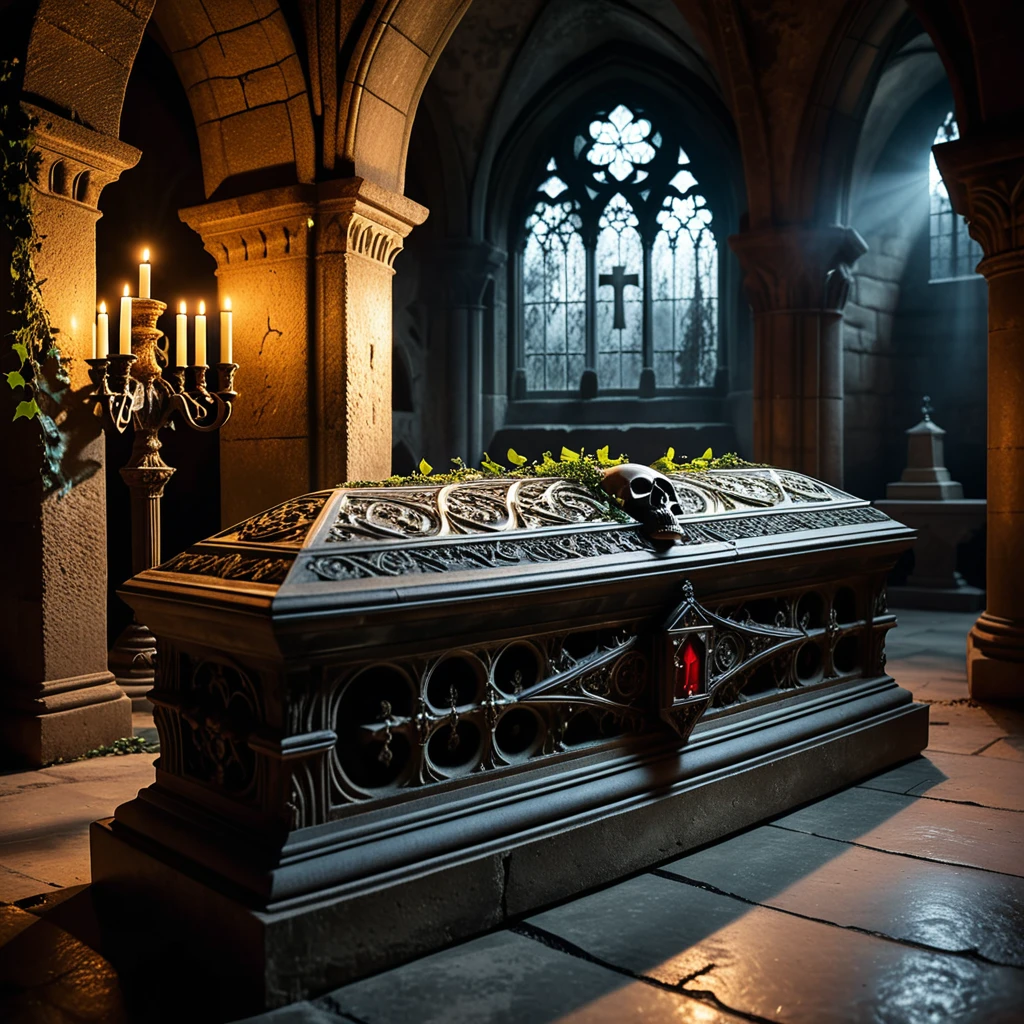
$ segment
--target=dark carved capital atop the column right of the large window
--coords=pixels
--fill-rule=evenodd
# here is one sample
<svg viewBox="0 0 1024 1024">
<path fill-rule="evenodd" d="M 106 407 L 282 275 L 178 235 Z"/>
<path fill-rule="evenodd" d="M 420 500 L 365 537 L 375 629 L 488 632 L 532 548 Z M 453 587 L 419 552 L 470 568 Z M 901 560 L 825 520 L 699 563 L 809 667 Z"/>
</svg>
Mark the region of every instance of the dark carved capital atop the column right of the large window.
<svg viewBox="0 0 1024 1024">
<path fill-rule="evenodd" d="M 842 312 L 851 266 L 867 252 L 852 227 L 769 227 L 733 234 L 729 246 L 743 268 L 755 313 L 779 310 Z"/>
</svg>

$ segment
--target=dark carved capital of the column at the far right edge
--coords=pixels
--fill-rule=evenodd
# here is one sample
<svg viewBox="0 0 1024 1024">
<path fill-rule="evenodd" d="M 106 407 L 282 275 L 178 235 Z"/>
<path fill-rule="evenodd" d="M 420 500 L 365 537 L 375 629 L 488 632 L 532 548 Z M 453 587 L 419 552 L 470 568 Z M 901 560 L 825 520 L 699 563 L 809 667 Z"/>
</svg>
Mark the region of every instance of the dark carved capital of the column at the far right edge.
<svg viewBox="0 0 1024 1024">
<path fill-rule="evenodd" d="M 953 209 L 967 217 L 992 278 L 1024 266 L 1024 142 L 978 134 L 933 147 Z"/>
</svg>

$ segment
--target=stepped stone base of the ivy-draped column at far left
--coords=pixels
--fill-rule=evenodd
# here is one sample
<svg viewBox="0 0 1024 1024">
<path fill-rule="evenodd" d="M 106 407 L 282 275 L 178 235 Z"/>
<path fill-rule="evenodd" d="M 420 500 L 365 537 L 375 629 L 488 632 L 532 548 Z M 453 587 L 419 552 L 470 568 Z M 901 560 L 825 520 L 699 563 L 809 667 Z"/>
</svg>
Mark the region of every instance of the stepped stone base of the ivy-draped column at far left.
<svg viewBox="0 0 1024 1024">
<path fill-rule="evenodd" d="M 109 672 L 51 680 L 11 698 L 0 714 L 5 767 L 41 768 L 131 735 L 131 700 Z"/>
</svg>

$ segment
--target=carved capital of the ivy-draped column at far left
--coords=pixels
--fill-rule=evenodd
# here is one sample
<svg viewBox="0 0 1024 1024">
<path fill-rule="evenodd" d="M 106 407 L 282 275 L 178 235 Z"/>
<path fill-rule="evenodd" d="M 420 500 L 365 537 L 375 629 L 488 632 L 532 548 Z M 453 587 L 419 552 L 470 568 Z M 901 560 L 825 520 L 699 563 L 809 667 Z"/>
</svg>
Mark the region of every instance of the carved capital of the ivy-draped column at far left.
<svg viewBox="0 0 1024 1024">
<path fill-rule="evenodd" d="M 36 187 L 98 213 L 99 195 L 142 156 L 127 142 L 101 135 L 33 103 L 22 109 L 36 121 L 33 140 L 42 163 Z"/>
</svg>

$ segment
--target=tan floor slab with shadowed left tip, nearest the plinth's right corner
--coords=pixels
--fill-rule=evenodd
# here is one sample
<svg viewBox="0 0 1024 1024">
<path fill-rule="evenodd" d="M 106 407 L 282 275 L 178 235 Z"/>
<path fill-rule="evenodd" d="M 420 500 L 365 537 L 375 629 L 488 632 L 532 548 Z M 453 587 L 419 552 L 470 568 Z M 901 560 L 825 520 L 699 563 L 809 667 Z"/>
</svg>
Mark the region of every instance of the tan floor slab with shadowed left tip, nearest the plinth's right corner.
<svg viewBox="0 0 1024 1024">
<path fill-rule="evenodd" d="M 996 758 L 929 751 L 926 757 L 914 758 L 860 784 L 866 790 L 910 797 L 1024 811 L 1024 766 Z"/>
</svg>

